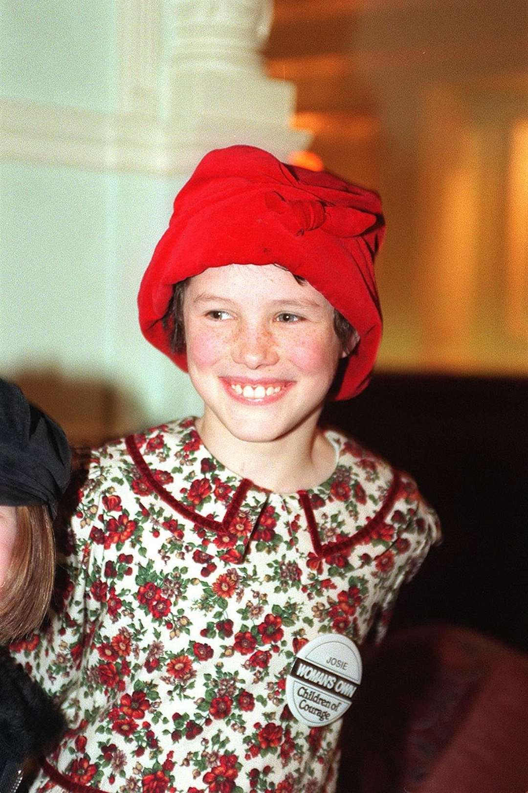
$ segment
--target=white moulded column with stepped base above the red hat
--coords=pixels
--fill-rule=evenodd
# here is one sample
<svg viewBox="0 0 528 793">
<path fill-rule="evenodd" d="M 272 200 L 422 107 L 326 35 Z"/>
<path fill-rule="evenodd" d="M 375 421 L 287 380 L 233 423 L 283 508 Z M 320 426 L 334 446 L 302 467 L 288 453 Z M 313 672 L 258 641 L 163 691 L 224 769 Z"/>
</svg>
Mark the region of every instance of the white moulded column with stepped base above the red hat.
<svg viewBox="0 0 528 793">
<path fill-rule="evenodd" d="M 252 144 L 287 159 L 308 132 L 289 127 L 295 87 L 267 77 L 260 52 L 271 0 L 174 0 L 170 139 L 195 155 Z"/>
</svg>

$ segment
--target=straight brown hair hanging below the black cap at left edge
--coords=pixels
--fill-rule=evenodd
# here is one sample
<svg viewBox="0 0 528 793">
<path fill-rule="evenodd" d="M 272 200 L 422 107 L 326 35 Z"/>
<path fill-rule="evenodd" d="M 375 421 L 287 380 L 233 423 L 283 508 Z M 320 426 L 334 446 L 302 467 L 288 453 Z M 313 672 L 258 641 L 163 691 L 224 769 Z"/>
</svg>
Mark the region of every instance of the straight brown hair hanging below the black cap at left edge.
<svg viewBox="0 0 528 793">
<path fill-rule="evenodd" d="M 17 507 L 17 537 L 0 590 L 0 642 L 40 625 L 52 596 L 55 542 L 46 504 Z"/>
</svg>

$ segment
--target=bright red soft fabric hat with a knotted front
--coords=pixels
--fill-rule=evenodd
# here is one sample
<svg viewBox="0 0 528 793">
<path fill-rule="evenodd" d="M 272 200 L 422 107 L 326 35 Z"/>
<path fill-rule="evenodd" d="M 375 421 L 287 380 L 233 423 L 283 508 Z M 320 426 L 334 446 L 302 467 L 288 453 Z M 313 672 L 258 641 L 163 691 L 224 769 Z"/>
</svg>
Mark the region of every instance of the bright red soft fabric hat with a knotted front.
<svg viewBox="0 0 528 793">
<path fill-rule="evenodd" d="M 281 163 L 252 146 L 215 149 L 174 199 L 140 286 L 140 326 L 149 342 L 187 370 L 163 328 L 173 285 L 209 267 L 279 264 L 312 284 L 359 334 L 336 399 L 369 382 L 381 339 L 373 260 L 385 222 L 377 193 L 325 171 Z"/>
</svg>

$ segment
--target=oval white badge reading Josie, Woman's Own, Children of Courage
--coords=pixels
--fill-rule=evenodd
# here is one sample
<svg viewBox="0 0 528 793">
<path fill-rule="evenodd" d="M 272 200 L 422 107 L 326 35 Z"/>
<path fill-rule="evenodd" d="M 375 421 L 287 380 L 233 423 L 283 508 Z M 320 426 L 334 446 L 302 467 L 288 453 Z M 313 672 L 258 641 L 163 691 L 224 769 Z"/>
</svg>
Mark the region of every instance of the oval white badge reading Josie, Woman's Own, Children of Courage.
<svg viewBox="0 0 528 793">
<path fill-rule="evenodd" d="M 301 647 L 286 678 L 286 701 L 308 727 L 341 718 L 362 681 L 358 648 L 341 634 L 323 634 Z"/>
</svg>

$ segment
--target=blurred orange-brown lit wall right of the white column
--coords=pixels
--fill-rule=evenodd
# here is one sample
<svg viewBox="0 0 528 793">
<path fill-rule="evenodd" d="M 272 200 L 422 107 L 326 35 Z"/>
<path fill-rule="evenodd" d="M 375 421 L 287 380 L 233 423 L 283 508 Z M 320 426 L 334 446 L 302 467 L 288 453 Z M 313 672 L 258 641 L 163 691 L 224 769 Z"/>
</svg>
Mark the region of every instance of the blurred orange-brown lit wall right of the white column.
<svg viewBox="0 0 528 793">
<path fill-rule="evenodd" d="M 266 56 L 384 199 L 378 367 L 528 374 L 526 2 L 276 0 Z"/>
</svg>

